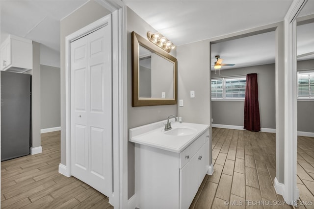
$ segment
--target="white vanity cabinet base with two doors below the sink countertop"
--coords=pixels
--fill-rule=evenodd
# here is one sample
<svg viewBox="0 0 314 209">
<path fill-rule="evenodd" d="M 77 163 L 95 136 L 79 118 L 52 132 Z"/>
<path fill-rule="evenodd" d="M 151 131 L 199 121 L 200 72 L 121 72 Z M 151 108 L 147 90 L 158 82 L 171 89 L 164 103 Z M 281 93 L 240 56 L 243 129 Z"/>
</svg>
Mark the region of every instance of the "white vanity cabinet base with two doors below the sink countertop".
<svg viewBox="0 0 314 209">
<path fill-rule="evenodd" d="M 209 128 L 205 127 L 183 150 L 170 150 L 173 142 L 158 147 L 156 142 L 151 145 L 136 141 L 136 137 L 130 139 L 135 142 L 135 196 L 139 209 L 189 208 L 209 169 Z M 177 138 L 180 141 L 180 136 Z"/>
</svg>

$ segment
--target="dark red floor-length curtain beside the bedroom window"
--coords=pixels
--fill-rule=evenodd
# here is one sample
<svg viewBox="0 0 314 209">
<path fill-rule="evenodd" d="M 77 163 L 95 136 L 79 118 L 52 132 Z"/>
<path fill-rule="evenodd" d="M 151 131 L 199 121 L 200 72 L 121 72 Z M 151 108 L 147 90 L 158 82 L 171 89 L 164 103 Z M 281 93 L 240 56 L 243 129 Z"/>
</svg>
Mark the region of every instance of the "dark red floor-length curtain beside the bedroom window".
<svg viewBox="0 0 314 209">
<path fill-rule="evenodd" d="M 244 129 L 249 131 L 261 131 L 257 73 L 246 75 Z"/>
</svg>

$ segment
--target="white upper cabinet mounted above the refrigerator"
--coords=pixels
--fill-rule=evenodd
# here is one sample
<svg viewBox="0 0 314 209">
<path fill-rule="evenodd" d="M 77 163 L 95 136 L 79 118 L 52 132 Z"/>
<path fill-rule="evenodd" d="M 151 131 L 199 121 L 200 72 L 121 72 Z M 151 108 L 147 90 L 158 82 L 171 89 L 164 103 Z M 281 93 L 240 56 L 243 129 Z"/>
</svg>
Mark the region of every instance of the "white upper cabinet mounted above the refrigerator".
<svg viewBox="0 0 314 209">
<path fill-rule="evenodd" d="M 0 70 L 25 72 L 33 68 L 32 41 L 14 35 L 0 46 Z"/>
</svg>

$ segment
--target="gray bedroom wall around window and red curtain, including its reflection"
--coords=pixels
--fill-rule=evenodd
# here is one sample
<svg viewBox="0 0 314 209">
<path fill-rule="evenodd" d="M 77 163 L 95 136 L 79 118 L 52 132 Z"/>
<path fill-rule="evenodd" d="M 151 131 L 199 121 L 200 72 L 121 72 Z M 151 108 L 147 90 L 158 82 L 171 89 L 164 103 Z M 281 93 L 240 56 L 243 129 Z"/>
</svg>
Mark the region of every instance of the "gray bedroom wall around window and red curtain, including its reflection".
<svg viewBox="0 0 314 209">
<path fill-rule="evenodd" d="M 314 60 L 298 62 L 298 70 L 314 69 Z M 275 123 L 275 64 L 222 70 L 221 75 L 211 72 L 211 78 L 258 73 L 259 104 L 262 128 L 276 128 Z M 314 101 L 298 101 L 298 131 L 314 133 Z M 211 102 L 214 124 L 243 126 L 243 101 Z"/>
</svg>

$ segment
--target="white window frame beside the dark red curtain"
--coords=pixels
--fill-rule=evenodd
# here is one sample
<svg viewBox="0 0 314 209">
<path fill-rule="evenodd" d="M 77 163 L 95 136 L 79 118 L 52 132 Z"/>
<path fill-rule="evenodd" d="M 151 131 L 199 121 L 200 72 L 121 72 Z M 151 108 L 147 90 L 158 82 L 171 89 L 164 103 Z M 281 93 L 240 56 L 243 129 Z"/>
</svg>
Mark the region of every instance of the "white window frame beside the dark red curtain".
<svg viewBox="0 0 314 209">
<path fill-rule="evenodd" d="M 219 77 L 219 78 L 210 79 L 210 98 L 211 98 L 211 101 L 244 101 L 245 90 L 244 90 L 244 97 L 233 97 L 233 98 L 232 97 L 226 97 L 226 81 L 228 81 L 228 80 L 242 80 L 242 79 L 245 79 L 245 87 L 246 87 L 246 75 L 226 76 L 226 77 Z M 212 83 L 212 81 L 215 81 L 215 80 L 222 80 L 222 97 L 219 97 L 219 98 L 212 98 L 212 85 L 211 85 L 211 83 Z M 245 87 L 244 87 L 244 89 L 245 89 Z"/>
</svg>

